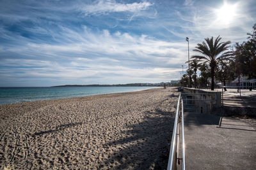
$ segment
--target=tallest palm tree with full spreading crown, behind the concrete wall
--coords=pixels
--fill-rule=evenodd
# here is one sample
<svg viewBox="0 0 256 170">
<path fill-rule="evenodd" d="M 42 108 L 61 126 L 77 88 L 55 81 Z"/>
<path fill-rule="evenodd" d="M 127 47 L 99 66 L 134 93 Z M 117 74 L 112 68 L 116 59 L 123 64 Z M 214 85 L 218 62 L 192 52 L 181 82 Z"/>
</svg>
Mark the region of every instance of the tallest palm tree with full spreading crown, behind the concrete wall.
<svg viewBox="0 0 256 170">
<path fill-rule="evenodd" d="M 221 37 L 218 36 L 215 41 L 212 38 L 205 38 L 205 42 L 198 43 L 193 51 L 199 52 L 202 55 L 193 55 L 191 59 L 205 60 L 211 67 L 211 90 L 214 90 L 214 71 L 219 60 L 228 59 L 232 52 L 228 51 L 228 46 L 231 42 L 221 42 Z"/>
</svg>

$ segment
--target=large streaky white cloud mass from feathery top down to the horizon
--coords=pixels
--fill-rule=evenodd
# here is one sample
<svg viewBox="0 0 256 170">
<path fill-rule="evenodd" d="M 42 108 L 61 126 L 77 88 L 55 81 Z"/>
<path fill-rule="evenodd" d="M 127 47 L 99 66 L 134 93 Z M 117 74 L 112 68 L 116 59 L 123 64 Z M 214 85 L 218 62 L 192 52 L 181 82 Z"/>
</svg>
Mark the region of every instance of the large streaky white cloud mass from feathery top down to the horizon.
<svg viewBox="0 0 256 170">
<path fill-rule="evenodd" d="M 86 27 L 82 33 L 63 28 L 59 36 L 66 34 L 65 43 L 60 45 L 28 43 L 19 48 L 8 47 L 7 51 L 21 53 L 24 58 L 35 57 L 6 59 L 1 63 L 6 67 L 20 67 L 15 68 L 19 72 L 15 73 L 17 78 L 25 75 L 67 81 L 86 78 L 90 82 L 98 78 L 98 82 L 128 83 L 127 80 L 157 82 L 177 79 L 181 69 L 170 69 L 170 66 L 186 61 L 186 53 L 182 52 L 187 48 L 186 43 L 170 43 L 127 32 L 92 32 Z M 0 72 L 2 75 L 12 74 L 12 70 L 7 69 Z"/>
</svg>

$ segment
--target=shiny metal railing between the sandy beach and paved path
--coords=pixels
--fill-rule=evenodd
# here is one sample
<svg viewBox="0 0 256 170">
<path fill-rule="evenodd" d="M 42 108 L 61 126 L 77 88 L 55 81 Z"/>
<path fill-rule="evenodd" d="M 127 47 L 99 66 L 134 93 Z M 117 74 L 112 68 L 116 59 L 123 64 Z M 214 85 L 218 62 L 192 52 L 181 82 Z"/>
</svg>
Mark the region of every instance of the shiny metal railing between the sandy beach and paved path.
<svg viewBox="0 0 256 170">
<path fill-rule="evenodd" d="M 175 121 L 174 121 L 174 127 L 173 127 L 173 133 L 172 133 L 172 143 L 171 143 L 170 155 L 169 155 L 168 167 L 167 167 L 168 170 L 177 169 L 177 166 L 180 164 L 180 160 L 182 161 L 182 169 L 186 169 L 183 115 L 184 115 L 183 101 L 182 101 L 182 97 L 179 96 L 176 115 L 175 115 Z M 182 158 L 179 158 L 180 129 L 181 129 L 181 138 L 182 138 Z"/>
</svg>

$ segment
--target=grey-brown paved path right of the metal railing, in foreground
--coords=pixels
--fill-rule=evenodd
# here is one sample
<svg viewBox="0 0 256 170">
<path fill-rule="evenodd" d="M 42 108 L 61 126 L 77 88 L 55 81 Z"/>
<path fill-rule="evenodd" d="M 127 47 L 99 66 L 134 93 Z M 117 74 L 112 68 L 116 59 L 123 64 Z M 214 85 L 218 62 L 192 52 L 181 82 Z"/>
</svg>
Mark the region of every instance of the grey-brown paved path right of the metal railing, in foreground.
<svg viewBox="0 0 256 170">
<path fill-rule="evenodd" d="M 184 113 L 186 169 L 256 169 L 256 130 L 241 118 Z"/>
</svg>

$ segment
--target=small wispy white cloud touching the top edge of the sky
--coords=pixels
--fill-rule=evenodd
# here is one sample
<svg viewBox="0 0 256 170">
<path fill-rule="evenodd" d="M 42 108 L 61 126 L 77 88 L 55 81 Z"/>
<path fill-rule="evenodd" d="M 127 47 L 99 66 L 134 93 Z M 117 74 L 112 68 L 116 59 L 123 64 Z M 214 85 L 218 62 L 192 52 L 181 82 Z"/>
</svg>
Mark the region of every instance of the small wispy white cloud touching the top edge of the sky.
<svg viewBox="0 0 256 170">
<path fill-rule="evenodd" d="M 131 4 L 123 4 L 117 3 L 113 0 L 99 0 L 95 4 L 86 5 L 82 8 L 85 15 L 101 15 L 104 13 L 111 13 L 111 12 L 136 12 L 141 10 L 147 10 L 149 6 L 153 4 L 148 2 L 141 2 L 141 3 L 131 3 Z"/>
</svg>

